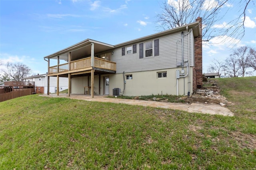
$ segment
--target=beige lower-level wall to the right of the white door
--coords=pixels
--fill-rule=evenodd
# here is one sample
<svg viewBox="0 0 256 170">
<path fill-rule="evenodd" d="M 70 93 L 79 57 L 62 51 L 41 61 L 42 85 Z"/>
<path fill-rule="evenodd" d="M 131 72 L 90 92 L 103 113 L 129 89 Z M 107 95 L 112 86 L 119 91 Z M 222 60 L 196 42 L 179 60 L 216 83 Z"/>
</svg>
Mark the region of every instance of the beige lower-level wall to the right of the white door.
<svg viewBox="0 0 256 170">
<path fill-rule="evenodd" d="M 112 95 L 113 88 L 120 88 L 121 95 L 140 96 L 140 95 L 176 95 L 177 79 L 175 69 L 162 69 L 155 71 L 142 71 L 133 73 L 109 75 L 109 94 Z M 186 68 L 184 68 L 186 74 Z M 157 73 L 167 71 L 167 77 L 158 78 Z M 126 80 L 126 75 L 132 75 L 132 79 Z M 124 80 L 125 88 L 124 88 Z M 103 92 L 102 92 L 103 93 Z M 192 93 L 192 68 L 190 68 L 190 93 Z M 188 94 L 188 76 L 178 79 L 178 95 Z"/>
</svg>

